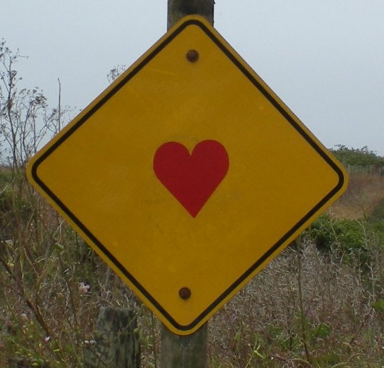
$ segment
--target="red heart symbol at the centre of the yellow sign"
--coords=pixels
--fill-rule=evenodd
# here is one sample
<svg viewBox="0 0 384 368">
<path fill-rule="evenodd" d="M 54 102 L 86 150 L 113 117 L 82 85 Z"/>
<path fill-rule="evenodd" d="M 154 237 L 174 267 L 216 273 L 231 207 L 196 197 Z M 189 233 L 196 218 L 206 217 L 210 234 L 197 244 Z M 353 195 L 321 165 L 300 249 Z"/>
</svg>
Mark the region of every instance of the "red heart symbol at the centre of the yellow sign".
<svg viewBox="0 0 384 368">
<path fill-rule="evenodd" d="M 225 147 L 216 140 L 203 140 L 192 154 L 181 143 L 167 142 L 153 158 L 157 178 L 192 217 L 225 178 L 229 164 Z"/>
</svg>

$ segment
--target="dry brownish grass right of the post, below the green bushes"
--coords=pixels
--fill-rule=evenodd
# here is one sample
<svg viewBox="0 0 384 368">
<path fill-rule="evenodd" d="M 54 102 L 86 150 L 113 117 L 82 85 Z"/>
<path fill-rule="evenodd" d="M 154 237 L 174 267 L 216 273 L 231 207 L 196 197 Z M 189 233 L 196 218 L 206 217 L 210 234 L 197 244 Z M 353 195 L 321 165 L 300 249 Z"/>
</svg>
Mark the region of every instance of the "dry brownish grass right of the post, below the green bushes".
<svg viewBox="0 0 384 368">
<path fill-rule="evenodd" d="M 380 282 L 313 244 L 286 249 L 213 317 L 212 367 L 380 367 Z"/>
</svg>

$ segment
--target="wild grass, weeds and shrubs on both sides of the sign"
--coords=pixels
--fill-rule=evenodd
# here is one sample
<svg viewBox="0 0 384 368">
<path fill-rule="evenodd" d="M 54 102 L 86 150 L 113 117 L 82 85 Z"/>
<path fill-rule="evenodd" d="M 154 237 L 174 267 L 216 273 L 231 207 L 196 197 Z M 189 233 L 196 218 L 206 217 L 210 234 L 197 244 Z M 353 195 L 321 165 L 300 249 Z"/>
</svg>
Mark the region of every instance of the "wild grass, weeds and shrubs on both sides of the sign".
<svg viewBox="0 0 384 368">
<path fill-rule="evenodd" d="M 81 367 L 101 305 L 133 308 L 142 365 L 159 367 L 159 322 L 26 183 L 25 159 L 63 123 L 17 89 L 17 58 L 0 44 L 0 367 Z M 350 167 L 345 195 L 209 322 L 210 366 L 382 367 L 383 247 L 384 176 Z"/>
</svg>

